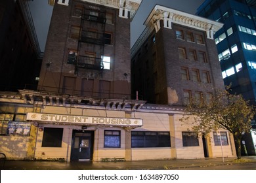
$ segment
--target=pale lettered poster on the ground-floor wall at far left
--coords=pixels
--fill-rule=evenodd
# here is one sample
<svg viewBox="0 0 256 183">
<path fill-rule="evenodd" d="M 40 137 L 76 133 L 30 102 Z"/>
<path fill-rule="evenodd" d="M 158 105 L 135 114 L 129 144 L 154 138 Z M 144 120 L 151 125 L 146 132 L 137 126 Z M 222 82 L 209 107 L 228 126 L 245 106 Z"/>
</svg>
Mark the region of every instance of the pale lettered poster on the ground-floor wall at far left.
<svg viewBox="0 0 256 183">
<path fill-rule="evenodd" d="M 7 133 L 12 135 L 30 135 L 31 124 L 26 122 L 9 122 Z"/>
</svg>

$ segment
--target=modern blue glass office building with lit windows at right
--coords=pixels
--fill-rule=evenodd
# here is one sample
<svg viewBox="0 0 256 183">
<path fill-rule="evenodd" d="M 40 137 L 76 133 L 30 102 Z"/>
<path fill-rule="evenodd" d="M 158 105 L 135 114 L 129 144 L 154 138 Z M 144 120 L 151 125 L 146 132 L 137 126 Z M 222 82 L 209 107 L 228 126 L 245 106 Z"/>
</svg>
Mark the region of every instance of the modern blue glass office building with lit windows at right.
<svg viewBox="0 0 256 183">
<path fill-rule="evenodd" d="M 256 105 L 256 1 L 206 0 L 196 14 L 224 24 L 215 33 L 224 84 Z M 252 126 L 243 141 L 248 155 L 256 151 L 255 120 Z"/>
</svg>

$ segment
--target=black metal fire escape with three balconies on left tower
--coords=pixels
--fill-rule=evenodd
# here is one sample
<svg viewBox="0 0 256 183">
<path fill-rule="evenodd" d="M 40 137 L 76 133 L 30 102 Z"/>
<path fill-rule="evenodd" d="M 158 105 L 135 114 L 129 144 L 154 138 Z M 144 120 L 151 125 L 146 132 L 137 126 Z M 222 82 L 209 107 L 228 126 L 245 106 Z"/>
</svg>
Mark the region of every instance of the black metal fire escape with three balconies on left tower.
<svg viewBox="0 0 256 183">
<path fill-rule="evenodd" d="M 104 69 L 104 32 L 106 12 L 85 9 L 81 17 L 75 72 L 82 69 Z"/>
</svg>

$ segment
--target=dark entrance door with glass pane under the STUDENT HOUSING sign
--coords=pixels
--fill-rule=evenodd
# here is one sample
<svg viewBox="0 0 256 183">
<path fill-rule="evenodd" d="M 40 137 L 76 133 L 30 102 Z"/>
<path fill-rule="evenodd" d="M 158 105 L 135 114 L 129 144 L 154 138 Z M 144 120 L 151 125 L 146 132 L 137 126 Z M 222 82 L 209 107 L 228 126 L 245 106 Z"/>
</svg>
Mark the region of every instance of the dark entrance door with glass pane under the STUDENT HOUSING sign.
<svg viewBox="0 0 256 183">
<path fill-rule="evenodd" d="M 91 161 L 93 158 L 94 131 L 73 130 L 72 135 L 72 161 Z"/>
</svg>

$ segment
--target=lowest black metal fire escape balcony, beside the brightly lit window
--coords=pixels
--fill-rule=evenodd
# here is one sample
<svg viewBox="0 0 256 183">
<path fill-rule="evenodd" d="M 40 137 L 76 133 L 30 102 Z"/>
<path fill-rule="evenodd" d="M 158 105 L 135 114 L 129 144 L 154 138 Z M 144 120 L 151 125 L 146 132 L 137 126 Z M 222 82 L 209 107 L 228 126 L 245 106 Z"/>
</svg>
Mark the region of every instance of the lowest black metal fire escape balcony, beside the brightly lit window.
<svg viewBox="0 0 256 183">
<path fill-rule="evenodd" d="M 76 67 L 84 69 L 104 69 L 101 58 L 93 58 L 88 56 L 78 56 Z"/>
</svg>

